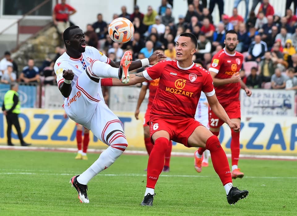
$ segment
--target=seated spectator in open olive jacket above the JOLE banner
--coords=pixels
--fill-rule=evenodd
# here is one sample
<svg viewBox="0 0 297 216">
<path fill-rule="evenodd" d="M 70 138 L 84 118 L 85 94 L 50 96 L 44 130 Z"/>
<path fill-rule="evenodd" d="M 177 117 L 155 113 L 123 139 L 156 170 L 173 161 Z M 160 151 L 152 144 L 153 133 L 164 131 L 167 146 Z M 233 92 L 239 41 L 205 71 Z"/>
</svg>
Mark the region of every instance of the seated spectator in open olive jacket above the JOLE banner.
<svg viewBox="0 0 297 216">
<path fill-rule="evenodd" d="M 271 76 L 274 73 L 275 67 L 271 57 L 270 52 L 265 52 L 264 59 L 260 61 L 259 74 L 262 82 L 270 82 Z"/>
</svg>

